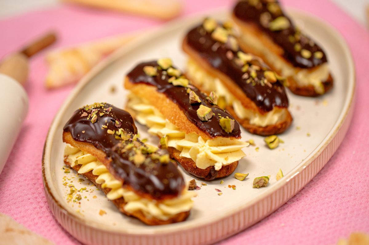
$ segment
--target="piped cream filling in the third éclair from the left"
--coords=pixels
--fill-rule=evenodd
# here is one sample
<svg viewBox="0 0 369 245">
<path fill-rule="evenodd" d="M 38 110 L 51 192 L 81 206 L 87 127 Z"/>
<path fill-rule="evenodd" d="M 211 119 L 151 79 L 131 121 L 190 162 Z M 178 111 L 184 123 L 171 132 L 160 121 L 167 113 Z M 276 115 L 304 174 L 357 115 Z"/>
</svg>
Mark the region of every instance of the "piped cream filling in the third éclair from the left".
<svg viewBox="0 0 369 245">
<path fill-rule="evenodd" d="M 214 91 L 218 96 L 224 97 L 227 105 L 232 105 L 237 117 L 240 119 L 248 119 L 250 124 L 265 127 L 286 119 L 287 110 L 278 107 L 274 107 L 273 110 L 268 111 L 265 114 L 246 109 L 242 106 L 242 103 L 228 91 L 218 78 L 207 74 L 207 72 L 199 67 L 199 65 L 197 65 L 193 60 L 188 61 L 186 74 L 196 81 L 196 84 L 201 86 L 204 90 Z"/>
</svg>

